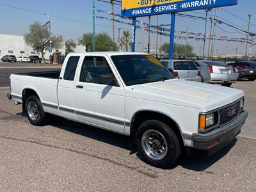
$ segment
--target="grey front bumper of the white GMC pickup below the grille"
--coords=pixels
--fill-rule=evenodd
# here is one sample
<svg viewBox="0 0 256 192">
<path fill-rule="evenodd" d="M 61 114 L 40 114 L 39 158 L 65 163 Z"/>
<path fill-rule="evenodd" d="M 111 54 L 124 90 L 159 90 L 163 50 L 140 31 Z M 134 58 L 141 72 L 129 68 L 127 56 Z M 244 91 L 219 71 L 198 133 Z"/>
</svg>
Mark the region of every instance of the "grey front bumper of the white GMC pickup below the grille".
<svg viewBox="0 0 256 192">
<path fill-rule="evenodd" d="M 223 127 L 214 129 L 214 131 L 205 134 L 193 134 L 193 148 L 197 150 L 205 150 L 207 155 L 211 156 L 236 138 L 241 132 L 241 127 L 247 117 L 248 112 L 242 111 L 235 120 Z"/>
</svg>

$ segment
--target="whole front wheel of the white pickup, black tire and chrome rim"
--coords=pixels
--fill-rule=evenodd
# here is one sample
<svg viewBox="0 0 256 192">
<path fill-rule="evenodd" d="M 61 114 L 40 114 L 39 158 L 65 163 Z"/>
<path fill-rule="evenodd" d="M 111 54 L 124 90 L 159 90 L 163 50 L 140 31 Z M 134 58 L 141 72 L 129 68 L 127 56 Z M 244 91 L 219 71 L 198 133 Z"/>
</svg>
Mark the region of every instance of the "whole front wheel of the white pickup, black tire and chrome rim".
<svg viewBox="0 0 256 192">
<path fill-rule="evenodd" d="M 140 125 L 136 145 L 143 161 L 158 168 L 172 166 L 181 154 L 175 132 L 158 120 L 147 120 Z"/>
</svg>

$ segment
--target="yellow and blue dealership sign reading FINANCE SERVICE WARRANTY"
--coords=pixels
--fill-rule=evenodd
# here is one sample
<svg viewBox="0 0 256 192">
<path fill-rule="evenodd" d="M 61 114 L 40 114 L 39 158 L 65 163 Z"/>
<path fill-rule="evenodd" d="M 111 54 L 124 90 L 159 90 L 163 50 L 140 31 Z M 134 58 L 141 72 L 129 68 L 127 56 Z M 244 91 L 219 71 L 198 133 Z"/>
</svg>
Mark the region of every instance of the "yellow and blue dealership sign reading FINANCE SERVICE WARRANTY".
<svg viewBox="0 0 256 192">
<path fill-rule="evenodd" d="M 122 16 L 144 17 L 236 4 L 237 0 L 122 0 Z"/>
</svg>

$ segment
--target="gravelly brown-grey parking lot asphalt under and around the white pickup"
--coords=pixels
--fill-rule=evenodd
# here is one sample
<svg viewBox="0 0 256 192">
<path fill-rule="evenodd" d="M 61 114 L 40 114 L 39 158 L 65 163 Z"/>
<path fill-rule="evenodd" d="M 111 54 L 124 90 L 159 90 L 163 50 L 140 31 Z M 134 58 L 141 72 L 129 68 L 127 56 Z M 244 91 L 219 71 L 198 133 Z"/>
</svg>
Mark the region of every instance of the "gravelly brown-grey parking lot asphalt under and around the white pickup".
<svg viewBox="0 0 256 192">
<path fill-rule="evenodd" d="M 169 170 L 143 163 L 127 136 L 59 117 L 33 126 L 2 87 L 0 191 L 256 191 L 256 81 L 233 87 L 244 90 L 250 115 L 241 134 L 214 156 L 182 157 Z"/>
</svg>

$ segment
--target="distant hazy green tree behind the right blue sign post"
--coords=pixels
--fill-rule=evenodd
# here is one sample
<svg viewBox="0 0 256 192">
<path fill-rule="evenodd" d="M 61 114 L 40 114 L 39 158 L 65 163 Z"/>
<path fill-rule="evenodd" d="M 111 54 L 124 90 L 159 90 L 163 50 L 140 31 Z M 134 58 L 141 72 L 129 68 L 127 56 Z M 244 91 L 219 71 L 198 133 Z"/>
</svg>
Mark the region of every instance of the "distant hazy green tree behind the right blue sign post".
<svg viewBox="0 0 256 192">
<path fill-rule="evenodd" d="M 167 56 L 169 54 L 169 45 L 168 43 L 164 43 L 160 47 L 160 51 L 164 52 L 164 54 Z M 174 44 L 173 46 L 173 55 L 174 56 L 185 56 L 186 54 L 186 45 L 182 44 Z M 193 53 L 193 47 L 191 45 L 187 45 L 187 56 L 188 57 L 194 57 L 196 56 L 195 53 Z"/>
</svg>

